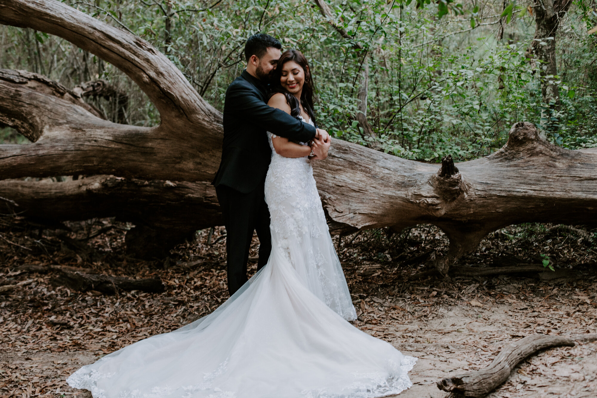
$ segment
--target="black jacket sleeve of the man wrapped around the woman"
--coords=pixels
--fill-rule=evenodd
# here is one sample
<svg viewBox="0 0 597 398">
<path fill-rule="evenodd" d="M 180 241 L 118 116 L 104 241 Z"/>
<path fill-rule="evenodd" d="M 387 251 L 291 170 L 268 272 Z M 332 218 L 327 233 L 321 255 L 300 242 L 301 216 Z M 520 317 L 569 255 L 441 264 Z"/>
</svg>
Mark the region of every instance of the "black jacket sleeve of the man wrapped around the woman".
<svg viewBox="0 0 597 398">
<path fill-rule="evenodd" d="M 288 115 L 282 109 L 272 108 L 249 88 L 240 85 L 235 87 L 232 93 L 227 94 L 227 100 L 230 101 L 230 109 L 259 123 L 276 136 L 297 142 L 309 142 L 315 137 L 315 127 Z"/>
</svg>

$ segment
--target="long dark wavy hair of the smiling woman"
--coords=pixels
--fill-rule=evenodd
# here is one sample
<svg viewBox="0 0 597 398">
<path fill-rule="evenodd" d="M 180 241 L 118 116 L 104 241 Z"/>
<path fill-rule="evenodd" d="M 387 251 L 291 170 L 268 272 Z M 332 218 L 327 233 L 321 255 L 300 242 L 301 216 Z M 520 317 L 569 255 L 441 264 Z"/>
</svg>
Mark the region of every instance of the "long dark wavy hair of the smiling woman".
<svg viewBox="0 0 597 398">
<path fill-rule="evenodd" d="M 300 96 L 300 103 L 303 105 L 303 109 L 309 115 L 309 118 L 313 121 L 313 124 L 317 125 L 315 121 L 315 112 L 313 111 L 313 100 L 315 97 L 313 96 L 313 78 L 311 77 L 311 68 L 309 68 L 309 62 L 304 57 L 303 53 L 298 50 L 287 50 L 280 56 L 278 60 L 278 66 L 276 66 L 276 70 L 273 74 L 273 88 L 272 88 L 272 95 L 275 93 L 282 93 L 286 97 L 286 102 L 290 105 L 290 115 L 298 118 L 300 115 L 300 106 L 298 104 L 298 100 L 293 94 L 288 93 L 288 91 L 284 90 L 284 87 L 280 84 L 280 78 L 282 76 L 282 66 L 285 63 L 294 61 L 304 71 L 304 82 L 303 82 L 303 92 Z"/>
</svg>

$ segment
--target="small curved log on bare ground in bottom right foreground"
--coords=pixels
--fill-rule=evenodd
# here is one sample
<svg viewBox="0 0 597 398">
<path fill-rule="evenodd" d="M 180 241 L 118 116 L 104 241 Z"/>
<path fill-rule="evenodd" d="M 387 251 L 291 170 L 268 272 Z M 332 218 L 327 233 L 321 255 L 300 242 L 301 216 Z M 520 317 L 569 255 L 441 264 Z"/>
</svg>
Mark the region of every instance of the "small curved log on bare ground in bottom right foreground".
<svg viewBox="0 0 597 398">
<path fill-rule="evenodd" d="M 523 359 L 549 347 L 574 346 L 574 341 L 562 336 L 534 335 L 522 338 L 500 351 L 491 365 L 480 371 L 451 376 L 438 381 L 440 390 L 481 398 L 502 384 L 512 369 Z"/>
</svg>

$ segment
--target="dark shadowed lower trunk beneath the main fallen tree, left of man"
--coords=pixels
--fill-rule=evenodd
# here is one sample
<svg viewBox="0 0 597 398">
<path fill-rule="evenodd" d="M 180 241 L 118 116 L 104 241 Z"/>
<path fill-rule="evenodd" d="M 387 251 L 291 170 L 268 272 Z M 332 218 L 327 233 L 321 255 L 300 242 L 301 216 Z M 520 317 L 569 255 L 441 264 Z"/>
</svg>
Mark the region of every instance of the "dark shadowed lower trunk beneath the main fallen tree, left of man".
<svg viewBox="0 0 597 398">
<path fill-rule="evenodd" d="M 64 182 L 0 180 L 0 196 L 16 198 L 20 215 L 39 221 L 116 217 L 136 226 L 128 252 L 163 258 L 197 229 L 221 224 L 216 190 L 208 182 L 93 176 Z"/>
</svg>

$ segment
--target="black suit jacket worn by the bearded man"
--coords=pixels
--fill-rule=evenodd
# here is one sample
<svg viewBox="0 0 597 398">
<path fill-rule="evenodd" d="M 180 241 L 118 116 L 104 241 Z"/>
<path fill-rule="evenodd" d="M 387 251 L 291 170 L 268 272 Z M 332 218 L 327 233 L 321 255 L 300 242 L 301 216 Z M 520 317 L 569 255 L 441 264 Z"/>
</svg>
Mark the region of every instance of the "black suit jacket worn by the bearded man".
<svg viewBox="0 0 597 398">
<path fill-rule="evenodd" d="M 222 160 L 213 185 L 248 193 L 263 183 L 272 158 L 266 131 L 296 142 L 309 142 L 316 133 L 267 105 L 267 87 L 245 70 L 226 90 Z"/>
</svg>

